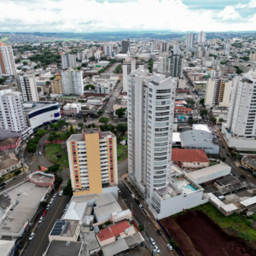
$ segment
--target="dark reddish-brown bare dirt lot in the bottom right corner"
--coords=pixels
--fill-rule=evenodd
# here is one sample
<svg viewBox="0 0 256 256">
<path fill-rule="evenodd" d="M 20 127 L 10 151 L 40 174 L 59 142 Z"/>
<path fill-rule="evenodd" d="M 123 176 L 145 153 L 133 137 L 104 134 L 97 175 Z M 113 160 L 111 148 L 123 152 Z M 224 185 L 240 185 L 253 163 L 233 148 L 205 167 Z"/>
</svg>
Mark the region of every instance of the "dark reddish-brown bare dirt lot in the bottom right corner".
<svg viewBox="0 0 256 256">
<path fill-rule="evenodd" d="M 242 239 L 229 236 L 200 210 L 160 221 L 179 244 L 182 252 L 193 256 L 256 255 Z"/>
</svg>

